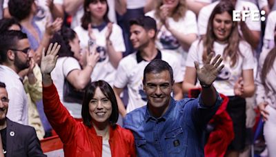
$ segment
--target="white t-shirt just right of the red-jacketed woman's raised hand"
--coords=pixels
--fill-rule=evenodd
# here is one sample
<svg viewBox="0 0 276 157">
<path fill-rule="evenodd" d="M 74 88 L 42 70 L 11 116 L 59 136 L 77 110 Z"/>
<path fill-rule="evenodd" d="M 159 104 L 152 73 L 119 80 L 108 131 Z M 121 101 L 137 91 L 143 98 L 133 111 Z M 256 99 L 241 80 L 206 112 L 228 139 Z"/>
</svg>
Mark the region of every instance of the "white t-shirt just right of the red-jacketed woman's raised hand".
<svg viewBox="0 0 276 157">
<path fill-rule="evenodd" d="M 59 99 L 63 102 L 64 79 L 72 70 L 81 70 L 79 62 L 73 57 L 61 57 L 57 59 L 57 64 L 51 72 L 52 82 L 57 87 Z"/>
</svg>

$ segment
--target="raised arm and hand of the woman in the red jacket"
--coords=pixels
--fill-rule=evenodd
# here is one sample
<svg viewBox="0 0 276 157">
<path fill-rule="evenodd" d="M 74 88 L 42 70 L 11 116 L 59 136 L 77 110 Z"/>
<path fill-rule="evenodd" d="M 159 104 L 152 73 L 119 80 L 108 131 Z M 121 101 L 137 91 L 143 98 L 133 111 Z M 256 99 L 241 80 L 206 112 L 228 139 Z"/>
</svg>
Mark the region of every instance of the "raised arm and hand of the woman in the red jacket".
<svg viewBox="0 0 276 157">
<path fill-rule="evenodd" d="M 55 85 L 52 83 L 50 72 L 55 68 L 57 63 L 57 52 L 60 45 L 50 43 L 45 55 L 43 51 L 41 59 L 41 74 L 43 83 L 43 106 L 48 121 L 55 129 L 64 144 L 68 143 L 75 135 L 77 122 L 70 116 L 70 113 L 64 107 L 60 100 Z"/>
</svg>

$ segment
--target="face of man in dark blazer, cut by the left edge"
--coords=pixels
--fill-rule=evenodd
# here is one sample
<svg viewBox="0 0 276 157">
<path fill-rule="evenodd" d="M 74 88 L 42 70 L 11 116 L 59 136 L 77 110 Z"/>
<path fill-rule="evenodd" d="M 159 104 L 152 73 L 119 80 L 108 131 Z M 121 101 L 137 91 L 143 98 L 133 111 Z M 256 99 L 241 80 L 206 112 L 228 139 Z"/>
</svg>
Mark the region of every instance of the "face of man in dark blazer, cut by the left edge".
<svg viewBox="0 0 276 157">
<path fill-rule="evenodd" d="M 0 87 L 0 121 L 6 118 L 8 112 L 8 92 Z"/>
</svg>

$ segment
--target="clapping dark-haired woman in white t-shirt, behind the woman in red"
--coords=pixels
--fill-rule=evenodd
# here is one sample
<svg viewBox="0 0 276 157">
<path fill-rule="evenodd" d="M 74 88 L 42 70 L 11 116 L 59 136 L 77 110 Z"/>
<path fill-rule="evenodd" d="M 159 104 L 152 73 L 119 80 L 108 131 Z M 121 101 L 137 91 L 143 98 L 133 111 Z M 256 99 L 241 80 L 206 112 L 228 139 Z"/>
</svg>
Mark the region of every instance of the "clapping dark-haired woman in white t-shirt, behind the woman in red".
<svg viewBox="0 0 276 157">
<path fill-rule="evenodd" d="M 83 10 L 81 25 L 74 30 L 81 36 L 81 48 L 96 45 L 100 54 L 91 80 L 104 80 L 112 85 L 122 52 L 126 50 L 122 30 L 116 23 L 110 23 L 106 0 L 85 0 Z"/>
</svg>

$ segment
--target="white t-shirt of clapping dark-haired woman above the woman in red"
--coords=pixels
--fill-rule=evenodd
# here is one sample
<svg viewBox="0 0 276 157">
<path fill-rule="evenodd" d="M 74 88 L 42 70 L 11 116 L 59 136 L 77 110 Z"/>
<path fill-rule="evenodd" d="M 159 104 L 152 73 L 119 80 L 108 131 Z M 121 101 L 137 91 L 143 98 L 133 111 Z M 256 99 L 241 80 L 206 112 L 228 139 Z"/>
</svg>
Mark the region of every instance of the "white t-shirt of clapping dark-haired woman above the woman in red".
<svg viewBox="0 0 276 157">
<path fill-rule="evenodd" d="M 106 52 L 106 31 L 107 27 L 103 28 L 101 32 L 98 29 L 93 28 L 93 35 L 96 37 L 95 43 L 101 47 L 103 51 L 100 54 L 100 60 L 95 65 L 94 70 L 91 75 L 91 81 L 104 80 L 110 85 L 113 85 L 115 79 L 115 67 L 113 67 L 109 61 L 108 54 Z M 75 32 L 80 36 L 81 48 L 87 48 L 88 46 L 88 31 L 84 30 L 81 26 L 75 28 Z M 124 44 L 124 38 L 122 30 L 116 23 L 113 23 L 112 33 L 110 34 L 110 41 L 116 52 L 125 52 L 126 47 Z"/>
</svg>

